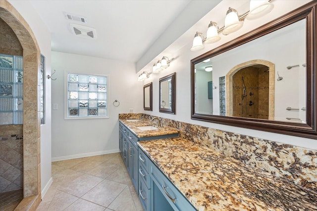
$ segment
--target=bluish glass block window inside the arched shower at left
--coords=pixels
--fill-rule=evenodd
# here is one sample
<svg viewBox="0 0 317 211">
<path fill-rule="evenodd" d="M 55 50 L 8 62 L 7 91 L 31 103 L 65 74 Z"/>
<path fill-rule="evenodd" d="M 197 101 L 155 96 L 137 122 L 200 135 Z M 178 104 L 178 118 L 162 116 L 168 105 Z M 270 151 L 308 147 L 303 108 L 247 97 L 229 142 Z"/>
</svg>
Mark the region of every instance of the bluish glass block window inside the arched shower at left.
<svg viewBox="0 0 317 211">
<path fill-rule="evenodd" d="M 0 125 L 23 124 L 23 56 L 0 54 Z"/>
</svg>

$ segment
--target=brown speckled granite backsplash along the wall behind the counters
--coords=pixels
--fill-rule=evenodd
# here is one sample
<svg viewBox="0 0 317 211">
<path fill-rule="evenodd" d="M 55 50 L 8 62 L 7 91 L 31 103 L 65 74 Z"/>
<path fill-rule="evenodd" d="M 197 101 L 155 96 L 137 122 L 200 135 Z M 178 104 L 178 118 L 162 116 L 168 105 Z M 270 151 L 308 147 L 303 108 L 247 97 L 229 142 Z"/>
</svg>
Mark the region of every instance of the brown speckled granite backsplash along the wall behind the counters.
<svg viewBox="0 0 317 211">
<path fill-rule="evenodd" d="M 147 114 L 119 114 L 119 119 L 149 121 Z M 282 144 L 257 137 L 202 127 L 159 117 L 163 127 L 174 127 L 180 137 L 206 146 L 224 156 L 274 176 L 317 191 L 317 150 Z"/>
</svg>

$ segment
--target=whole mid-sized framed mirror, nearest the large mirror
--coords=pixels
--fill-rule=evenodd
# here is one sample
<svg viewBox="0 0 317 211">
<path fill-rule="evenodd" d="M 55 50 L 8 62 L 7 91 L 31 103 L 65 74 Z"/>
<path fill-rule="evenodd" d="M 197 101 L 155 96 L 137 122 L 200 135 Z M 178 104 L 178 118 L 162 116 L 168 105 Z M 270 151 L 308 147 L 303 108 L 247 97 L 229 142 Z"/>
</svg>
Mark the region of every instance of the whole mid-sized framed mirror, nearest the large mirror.
<svg viewBox="0 0 317 211">
<path fill-rule="evenodd" d="M 159 79 L 159 112 L 175 114 L 176 73 Z"/>
</svg>

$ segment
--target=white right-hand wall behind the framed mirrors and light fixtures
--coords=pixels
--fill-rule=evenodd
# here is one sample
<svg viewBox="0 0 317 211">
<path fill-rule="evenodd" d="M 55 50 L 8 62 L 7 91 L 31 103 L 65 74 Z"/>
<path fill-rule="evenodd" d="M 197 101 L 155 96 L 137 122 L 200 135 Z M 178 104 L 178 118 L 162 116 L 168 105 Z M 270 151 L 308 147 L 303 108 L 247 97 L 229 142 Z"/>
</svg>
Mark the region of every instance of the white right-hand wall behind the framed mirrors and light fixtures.
<svg viewBox="0 0 317 211">
<path fill-rule="evenodd" d="M 278 14 L 275 14 L 272 11 L 271 13 L 274 13 L 274 15 L 271 16 L 270 14 L 270 16 L 267 16 L 267 17 L 275 16 L 275 18 L 277 18 L 307 2 L 308 1 L 274 1 L 273 3 L 274 4 L 276 3 L 274 7 L 274 12 L 275 13 L 277 12 Z M 263 21 L 263 20 L 260 20 L 260 21 Z M 208 25 L 208 23 L 209 22 L 206 21 L 206 26 Z M 254 23 L 255 22 L 252 22 L 252 23 L 249 22 L 249 25 L 247 25 L 248 22 L 245 22 L 246 26 L 243 27 L 241 32 L 233 33 L 232 35 L 228 35 L 226 37 L 222 36 L 223 40 L 221 42 L 217 44 L 206 45 L 206 48 L 202 51 L 199 51 L 199 52 L 190 51 L 192 41 L 188 41 L 187 45 L 173 52 L 172 56 L 175 57 L 176 59 L 171 62 L 170 67 L 164 71 L 159 72 L 158 74 L 151 74 L 150 78 L 144 81 L 144 84 L 153 82 L 153 111 L 152 112 L 144 111 L 144 113 L 163 117 L 163 118 L 168 118 L 172 120 L 177 120 L 181 122 L 191 123 L 195 125 L 221 129 L 225 131 L 250 135 L 253 137 L 263 138 L 267 140 L 272 140 L 272 141 L 277 141 L 277 142 L 282 142 L 282 143 L 292 144 L 295 146 L 301 146 L 301 147 L 317 150 L 317 140 L 314 140 L 314 139 L 301 138 L 297 136 L 283 135 L 278 133 L 246 129 L 242 127 L 231 127 L 226 125 L 191 120 L 190 60 L 213 49 L 214 47 L 221 45 L 221 43 L 228 42 L 228 39 L 234 39 L 235 37 L 240 36 L 243 33 L 246 33 L 246 31 L 244 30 L 250 31 L 254 29 L 255 27 L 259 26 L 259 25 L 257 26 L 257 24 L 254 24 Z M 262 22 L 262 23 L 259 22 L 258 24 L 264 24 L 264 23 L 265 22 Z M 151 66 L 151 64 L 149 64 L 149 66 Z M 176 114 L 171 115 L 171 114 L 159 113 L 159 78 L 162 78 L 173 72 L 176 72 Z M 215 84 L 215 85 L 218 86 L 218 84 Z"/>
</svg>

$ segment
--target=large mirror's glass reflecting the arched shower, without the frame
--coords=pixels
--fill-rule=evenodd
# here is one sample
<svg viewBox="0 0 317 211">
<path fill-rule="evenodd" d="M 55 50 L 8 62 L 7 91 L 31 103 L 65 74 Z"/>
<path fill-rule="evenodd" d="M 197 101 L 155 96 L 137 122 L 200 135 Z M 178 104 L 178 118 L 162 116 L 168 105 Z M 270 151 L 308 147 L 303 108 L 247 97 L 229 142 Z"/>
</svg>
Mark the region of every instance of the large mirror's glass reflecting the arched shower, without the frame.
<svg viewBox="0 0 317 211">
<path fill-rule="evenodd" d="M 306 107 L 305 31 L 304 19 L 195 64 L 195 113 L 220 114 L 220 93 L 212 89 L 210 99 L 208 82 L 225 76 L 225 116 L 306 123 L 305 109 L 286 110 Z M 275 67 L 286 78 L 274 88 Z"/>
</svg>

